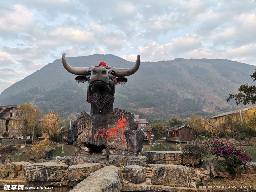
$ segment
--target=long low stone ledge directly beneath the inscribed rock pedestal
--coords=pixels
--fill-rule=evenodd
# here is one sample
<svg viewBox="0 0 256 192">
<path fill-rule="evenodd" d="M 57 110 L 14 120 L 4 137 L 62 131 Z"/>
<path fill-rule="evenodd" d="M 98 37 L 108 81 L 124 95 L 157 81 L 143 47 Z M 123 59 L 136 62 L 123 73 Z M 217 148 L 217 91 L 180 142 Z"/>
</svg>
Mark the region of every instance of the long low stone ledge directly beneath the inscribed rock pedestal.
<svg viewBox="0 0 256 192">
<path fill-rule="evenodd" d="M 78 156 L 67 156 L 64 158 L 67 165 L 78 165 L 83 163 L 101 163 L 106 166 L 126 166 L 126 165 L 143 165 L 147 164 L 147 157 L 144 156 L 128 156 L 128 155 L 78 155 Z"/>
</svg>

